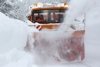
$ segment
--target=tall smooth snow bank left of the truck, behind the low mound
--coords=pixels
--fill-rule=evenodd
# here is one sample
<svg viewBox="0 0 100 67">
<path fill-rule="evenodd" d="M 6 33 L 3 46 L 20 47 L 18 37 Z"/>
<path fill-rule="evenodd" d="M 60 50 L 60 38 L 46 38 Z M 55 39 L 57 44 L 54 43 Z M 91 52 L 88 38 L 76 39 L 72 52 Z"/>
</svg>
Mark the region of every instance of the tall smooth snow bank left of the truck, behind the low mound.
<svg viewBox="0 0 100 67">
<path fill-rule="evenodd" d="M 12 48 L 23 50 L 27 42 L 28 26 L 0 13 L 0 53 Z"/>
</svg>

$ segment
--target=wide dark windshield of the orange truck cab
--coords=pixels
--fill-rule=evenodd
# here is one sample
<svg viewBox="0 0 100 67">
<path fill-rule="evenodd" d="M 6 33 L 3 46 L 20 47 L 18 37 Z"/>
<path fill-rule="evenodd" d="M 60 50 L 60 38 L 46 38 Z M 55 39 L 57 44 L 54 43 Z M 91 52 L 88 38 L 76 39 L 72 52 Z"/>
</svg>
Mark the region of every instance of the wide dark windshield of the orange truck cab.
<svg viewBox="0 0 100 67">
<path fill-rule="evenodd" d="M 65 10 L 35 10 L 32 13 L 33 22 L 38 23 L 61 23 Z"/>
</svg>

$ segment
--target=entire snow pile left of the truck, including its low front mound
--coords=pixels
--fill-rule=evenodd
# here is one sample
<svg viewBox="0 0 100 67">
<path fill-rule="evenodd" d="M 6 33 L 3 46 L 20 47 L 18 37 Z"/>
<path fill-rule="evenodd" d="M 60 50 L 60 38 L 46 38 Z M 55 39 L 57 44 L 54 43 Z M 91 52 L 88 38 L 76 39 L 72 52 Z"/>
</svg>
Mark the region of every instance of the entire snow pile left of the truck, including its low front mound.
<svg viewBox="0 0 100 67">
<path fill-rule="evenodd" d="M 32 29 L 25 22 L 0 13 L 0 67 L 35 66 L 33 56 L 24 51 L 28 36 L 37 31 Z"/>
</svg>

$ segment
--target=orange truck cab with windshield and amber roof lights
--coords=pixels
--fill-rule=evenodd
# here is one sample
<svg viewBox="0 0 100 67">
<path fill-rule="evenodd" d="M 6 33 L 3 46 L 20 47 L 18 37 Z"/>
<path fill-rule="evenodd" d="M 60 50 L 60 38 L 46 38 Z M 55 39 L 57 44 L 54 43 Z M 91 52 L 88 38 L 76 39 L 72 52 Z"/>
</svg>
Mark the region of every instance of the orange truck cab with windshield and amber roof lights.
<svg viewBox="0 0 100 67">
<path fill-rule="evenodd" d="M 36 4 L 35 4 L 36 5 Z M 36 7 L 32 8 L 29 20 L 32 23 L 41 24 L 42 29 L 56 29 L 64 21 L 64 15 L 68 10 L 67 4 L 63 3 L 63 6 L 48 6 L 48 7 Z"/>
</svg>

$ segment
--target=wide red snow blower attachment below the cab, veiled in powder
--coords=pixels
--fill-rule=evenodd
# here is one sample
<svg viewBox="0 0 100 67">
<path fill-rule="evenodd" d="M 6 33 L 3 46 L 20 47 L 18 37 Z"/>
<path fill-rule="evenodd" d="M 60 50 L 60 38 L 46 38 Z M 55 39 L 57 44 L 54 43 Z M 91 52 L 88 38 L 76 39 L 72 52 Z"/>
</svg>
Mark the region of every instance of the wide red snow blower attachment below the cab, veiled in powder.
<svg viewBox="0 0 100 67">
<path fill-rule="evenodd" d="M 58 61 L 60 59 L 83 60 L 85 57 L 84 33 L 85 30 L 36 32 L 34 47 L 42 55 L 55 57 Z"/>
</svg>

